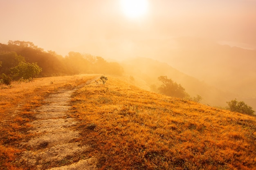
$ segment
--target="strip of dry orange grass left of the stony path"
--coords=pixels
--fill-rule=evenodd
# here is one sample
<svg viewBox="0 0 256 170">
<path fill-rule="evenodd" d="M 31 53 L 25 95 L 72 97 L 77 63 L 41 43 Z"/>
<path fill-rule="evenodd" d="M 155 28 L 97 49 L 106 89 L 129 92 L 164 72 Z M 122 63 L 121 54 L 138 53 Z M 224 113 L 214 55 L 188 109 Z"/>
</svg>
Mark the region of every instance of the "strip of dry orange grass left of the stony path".
<svg viewBox="0 0 256 170">
<path fill-rule="evenodd" d="M 29 140 L 27 133 L 34 120 L 33 108 L 56 89 L 74 88 L 98 75 L 74 75 L 34 79 L 32 82 L 13 82 L 0 86 L 0 169 L 19 170 L 13 163 L 19 142 Z"/>
</svg>

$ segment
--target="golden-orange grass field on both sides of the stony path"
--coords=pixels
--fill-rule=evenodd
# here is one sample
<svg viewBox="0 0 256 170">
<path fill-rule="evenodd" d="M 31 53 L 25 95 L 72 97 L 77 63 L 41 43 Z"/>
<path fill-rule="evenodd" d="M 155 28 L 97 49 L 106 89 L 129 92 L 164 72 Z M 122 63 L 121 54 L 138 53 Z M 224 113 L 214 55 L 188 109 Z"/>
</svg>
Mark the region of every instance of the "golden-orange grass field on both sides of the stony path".
<svg viewBox="0 0 256 170">
<path fill-rule="evenodd" d="M 21 152 L 19 141 L 31 137 L 26 133 L 31 108 L 52 91 L 95 76 L 40 78 L 0 89 L 0 167 L 20 169 L 14 160 Z M 74 128 L 82 132 L 76 141 L 91 146 L 86 155 L 99 159 L 100 170 L 256 169 L 256 117 L 107 77 L 105 86 L 98 80 L 78 89 L 69 111 L 79 121 Z"/>
</svg>

